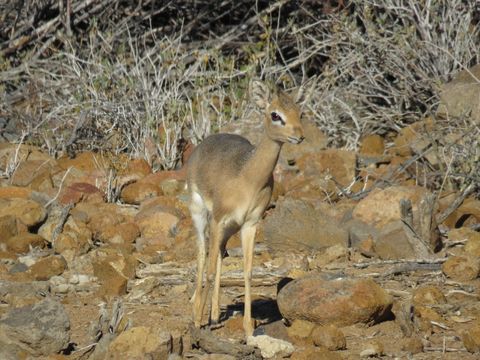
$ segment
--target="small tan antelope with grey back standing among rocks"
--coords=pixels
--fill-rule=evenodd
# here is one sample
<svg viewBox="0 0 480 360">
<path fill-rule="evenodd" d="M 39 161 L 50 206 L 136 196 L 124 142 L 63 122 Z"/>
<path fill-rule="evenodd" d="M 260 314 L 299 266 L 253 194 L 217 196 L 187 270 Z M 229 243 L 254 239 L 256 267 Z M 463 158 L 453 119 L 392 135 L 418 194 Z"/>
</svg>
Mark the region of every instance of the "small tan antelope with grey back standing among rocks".
<svg viewBox="0 0 480 360">
<path fill-rule="evenodd" d="M 304 140 L 300 108 L 293 97 L 280 89 L 270 89 L 258 80 L 252 81 L 249 91 L 251 100 L 262 113 L 265 127 L 258 146 L 239 135 L 210 135 L 195 148 L 187 167 L 189 209 L 198 246 L 196 288 L 192 297 L 194 325 L 202 325 L 212 282 L 210 323 L 219 321 L 225 245 L 240 231 L 245 281 L 243 328 L 247 337 L 253 335 L 254 327 L 250 282 L 257 223 L 270 202 L 273 170 L 282 144 L 300 144 Z"/>
</svg>

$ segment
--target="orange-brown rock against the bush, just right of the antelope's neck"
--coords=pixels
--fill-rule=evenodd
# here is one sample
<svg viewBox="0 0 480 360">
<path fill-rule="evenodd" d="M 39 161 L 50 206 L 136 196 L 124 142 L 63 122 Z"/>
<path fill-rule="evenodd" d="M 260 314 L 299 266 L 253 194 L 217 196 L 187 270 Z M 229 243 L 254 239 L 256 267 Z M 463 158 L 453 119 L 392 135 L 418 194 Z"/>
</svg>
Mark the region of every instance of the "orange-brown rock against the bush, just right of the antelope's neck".
<svg viewBox="0 0 480 360">
<path fill-rule="evenodd" d="M 341 186 L 355 180 L 356 155 L 353 151 L 327 149 L 307 153 L 298 159 L 298 168 L 306 177 L 333 177 Z"/>
</svg>

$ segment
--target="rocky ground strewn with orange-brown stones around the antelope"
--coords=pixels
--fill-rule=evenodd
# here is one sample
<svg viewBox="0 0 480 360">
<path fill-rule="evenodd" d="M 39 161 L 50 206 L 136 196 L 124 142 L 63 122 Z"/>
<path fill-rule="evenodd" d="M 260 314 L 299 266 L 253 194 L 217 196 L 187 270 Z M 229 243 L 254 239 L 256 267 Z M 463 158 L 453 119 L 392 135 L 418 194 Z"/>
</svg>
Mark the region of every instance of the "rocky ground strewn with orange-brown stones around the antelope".
<svg viewBox="0 0 480 360">
<path fill-rule="evenodd" d="M 448 99 L 452 115 L 459 105 Z M 255 141 L 248 125 L 241 132 Z M 237 237 L 221 324 L 191 328 L 184 169 L 0 144 L 1 358 L 478 359 L 478 184 L 419 186 L 428 174 L 415 160 L 438 166 L 425 151 L 438 126 L 427 118 L 367 136 L 352 152 L 327 149 L 306 123 L 305 143 L 284 147 L 257 235 L 248 344 Z"/>
</svg>

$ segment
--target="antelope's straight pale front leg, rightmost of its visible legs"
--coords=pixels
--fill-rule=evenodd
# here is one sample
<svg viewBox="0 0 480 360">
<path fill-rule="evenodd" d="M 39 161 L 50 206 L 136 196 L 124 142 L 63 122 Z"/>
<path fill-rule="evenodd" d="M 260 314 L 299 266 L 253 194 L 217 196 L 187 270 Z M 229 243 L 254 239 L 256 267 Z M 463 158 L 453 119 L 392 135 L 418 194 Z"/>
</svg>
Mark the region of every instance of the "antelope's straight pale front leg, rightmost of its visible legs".
<svg viewBox="0 0 480 360">
<path fill-rule="evenodd" d="M 255 232 L 257 225 L 244 224 L 240 236 L 243 249 L 243 278 L 245 280 L 245 310 L 243 312 L 243 329 L 246 336 L 253 335 L 252 323 L 252 296 L 250 282 L 252 280 L 253 247 L 255 244 Z"/>
</svg>

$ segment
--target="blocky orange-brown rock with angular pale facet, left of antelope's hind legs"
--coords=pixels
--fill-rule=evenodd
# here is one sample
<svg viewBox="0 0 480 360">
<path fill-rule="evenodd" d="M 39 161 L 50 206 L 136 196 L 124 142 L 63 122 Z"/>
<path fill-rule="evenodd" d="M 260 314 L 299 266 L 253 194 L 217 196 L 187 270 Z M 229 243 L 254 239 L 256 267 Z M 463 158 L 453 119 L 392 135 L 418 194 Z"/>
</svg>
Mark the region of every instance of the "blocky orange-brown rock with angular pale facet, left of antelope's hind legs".
<svg viewBox="0 0 480 360">
<path fill-rule="evenodd" d="M 99 249 L 93 256 L 93 272 L 101 284 L 100 296 L 125 294 L 128 279 L 135 275 L 135 259 L 131 255 L 107 249 Z"/>
</svg>

